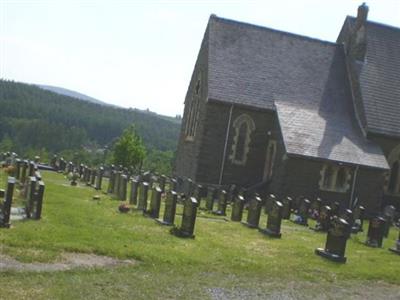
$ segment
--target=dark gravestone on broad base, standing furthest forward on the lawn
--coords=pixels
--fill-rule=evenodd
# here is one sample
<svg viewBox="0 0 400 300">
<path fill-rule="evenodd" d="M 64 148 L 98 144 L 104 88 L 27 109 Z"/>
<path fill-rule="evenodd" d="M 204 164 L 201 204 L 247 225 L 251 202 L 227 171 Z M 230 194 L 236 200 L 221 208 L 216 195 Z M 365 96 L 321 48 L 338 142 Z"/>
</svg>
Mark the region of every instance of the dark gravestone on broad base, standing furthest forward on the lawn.
<svg viewBox="0 0 400 300">
<path fill-rule="evenodd" d="M 326 237 L 325 249 L 318 248 L 315 250 L 315 254 L 334 262 L 345 263 L 347 259 L 344 255 L 349 235 L 349 223 L 342 218 L 335 217 Z"/>
</svg>

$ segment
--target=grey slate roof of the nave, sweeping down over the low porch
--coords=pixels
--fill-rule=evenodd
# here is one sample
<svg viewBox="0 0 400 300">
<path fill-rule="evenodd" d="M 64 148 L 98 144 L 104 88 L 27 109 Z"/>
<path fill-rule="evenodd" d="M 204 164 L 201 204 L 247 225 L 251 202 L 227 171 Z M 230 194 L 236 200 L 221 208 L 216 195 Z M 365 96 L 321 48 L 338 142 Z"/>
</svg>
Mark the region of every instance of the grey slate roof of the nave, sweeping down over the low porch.
<svg viewBox="0 0 400 300">
<path fill-rule="evenodd" d="M 357 127 L 341 45 L 212 16 L 208 98 L 277 110 L 286 151 L 388 168 Z"/>
</svg>

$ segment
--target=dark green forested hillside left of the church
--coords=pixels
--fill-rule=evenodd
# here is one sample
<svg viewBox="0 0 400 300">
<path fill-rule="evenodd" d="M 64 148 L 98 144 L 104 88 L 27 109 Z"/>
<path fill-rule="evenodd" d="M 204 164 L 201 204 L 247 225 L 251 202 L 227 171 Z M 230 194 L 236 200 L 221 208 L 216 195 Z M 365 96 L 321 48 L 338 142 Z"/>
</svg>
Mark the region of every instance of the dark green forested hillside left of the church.
<svg viewBox="0 0 400 300">
<path fill-rule="evenodd" d="M 17 151 L 33 148 L 55 153 L 88 144 L 104 147 L 132 123 L 148 149 L 175 151 L 179 124 L 157 115 L 0 80 L 0 143 L 12 142 Z"/>
</svg>

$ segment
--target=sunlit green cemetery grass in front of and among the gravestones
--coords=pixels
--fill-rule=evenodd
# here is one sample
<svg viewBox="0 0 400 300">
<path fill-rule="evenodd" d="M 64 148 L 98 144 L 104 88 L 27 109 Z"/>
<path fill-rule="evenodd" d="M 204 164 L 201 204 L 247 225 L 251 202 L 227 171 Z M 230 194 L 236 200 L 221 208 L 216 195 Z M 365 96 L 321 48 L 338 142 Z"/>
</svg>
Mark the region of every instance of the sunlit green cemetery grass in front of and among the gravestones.
<svg viewBox="0 0 400 300">
<path fill-rule="evenodd" d="M 400 298 L 400 256 L 388 251 L 398 229 L 382 249 L 372 249 L 363 245 L 364 224 L 364 233 L 347 242 L 347 263 L 336 264 L 314 254 L 325 234 L 289 221 L 282 238 L 272 239 L 201 211 L 196 238 L 180 239 L 138 212 L 120 214 L 120 202 L 103 193 L 71 187 L 60 174 L 42 175 L 42 220 L 0 228 L 0 258 L 49 265 L 65 253 L 87 253 L 135 263 L 41 272 L 0 268 L 0 299 Z M 3 171 L 0 176 L 3 185 Z M 100 201 L 92 200 L 96 194 Z"/>
</svg>

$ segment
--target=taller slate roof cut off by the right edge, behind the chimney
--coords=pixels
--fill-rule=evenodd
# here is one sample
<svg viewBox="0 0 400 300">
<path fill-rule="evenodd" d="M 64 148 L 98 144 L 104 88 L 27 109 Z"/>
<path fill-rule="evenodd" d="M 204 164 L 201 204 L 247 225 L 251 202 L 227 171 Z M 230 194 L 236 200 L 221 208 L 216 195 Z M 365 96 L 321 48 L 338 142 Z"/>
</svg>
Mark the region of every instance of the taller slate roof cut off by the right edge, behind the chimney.
<svg viewBox="0 0 400 300">
<path fill-rule="evenodd" d="M 360 87 L 367 130 L 400 137 L 400 28 L 367 22 L 366 34 Z"/>
</svg>

